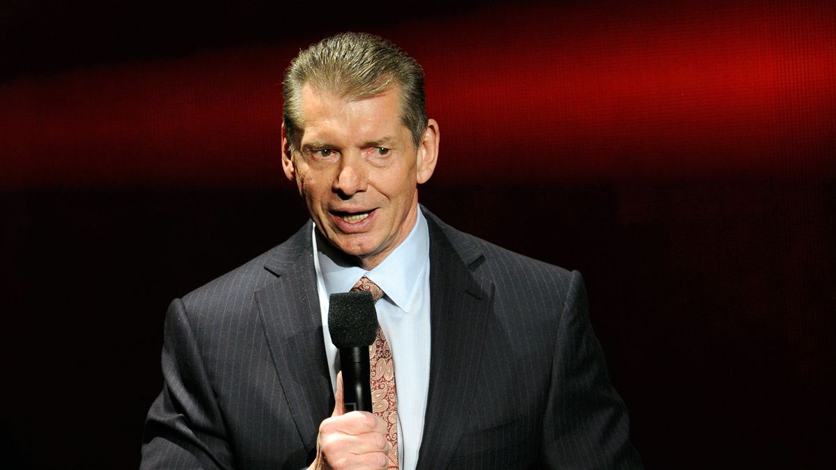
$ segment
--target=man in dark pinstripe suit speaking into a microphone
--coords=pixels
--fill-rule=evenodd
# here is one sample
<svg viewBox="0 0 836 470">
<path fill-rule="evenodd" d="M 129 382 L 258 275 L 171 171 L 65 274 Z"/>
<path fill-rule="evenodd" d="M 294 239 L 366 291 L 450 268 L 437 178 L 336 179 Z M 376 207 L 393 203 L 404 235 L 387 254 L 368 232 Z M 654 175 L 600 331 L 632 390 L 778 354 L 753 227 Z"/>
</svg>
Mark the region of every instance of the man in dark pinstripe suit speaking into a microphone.
<svg viewBox="0 0 836 470">
<path fill-rule="evenodd" d="M 143 467 L 640 467 L 580 275 L 418 204 L 439 126 L 415 60 L 340 34 L 284 87 L 283 170 L 312 223 L 171 304 Z M 396 384 L 375 414 L 344 412 L 327 321 L 361 285 Z"/>
</svg>

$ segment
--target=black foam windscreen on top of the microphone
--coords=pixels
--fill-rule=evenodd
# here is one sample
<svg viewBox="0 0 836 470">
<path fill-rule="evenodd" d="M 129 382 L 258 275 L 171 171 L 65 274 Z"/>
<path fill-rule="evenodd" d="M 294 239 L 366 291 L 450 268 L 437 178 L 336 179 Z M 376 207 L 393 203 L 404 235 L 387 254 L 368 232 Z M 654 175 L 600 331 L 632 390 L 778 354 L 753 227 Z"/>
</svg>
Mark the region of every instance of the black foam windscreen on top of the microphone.
<svg viewBox="0 0 836 470">
<path fill-rule="evenodd" d="M 367 290 L 331 294 L 328 330 L 338 348 L 368 346 L 377 334 L 375 299 Z"/>
</svg>

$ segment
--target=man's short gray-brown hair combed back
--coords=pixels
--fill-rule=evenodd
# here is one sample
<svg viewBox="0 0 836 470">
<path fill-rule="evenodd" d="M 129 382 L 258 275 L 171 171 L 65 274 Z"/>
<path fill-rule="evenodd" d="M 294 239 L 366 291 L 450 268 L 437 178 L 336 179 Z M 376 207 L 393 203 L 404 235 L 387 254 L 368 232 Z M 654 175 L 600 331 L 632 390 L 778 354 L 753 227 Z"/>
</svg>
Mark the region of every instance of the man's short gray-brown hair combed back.
<svg viewBox="0 0 836 470">
<path fill-rule="evenodd" d="M 301 139 L 302 87 L 310 84 L 351 100 L 400 89 L 400 122 L 417 148 L 426 130 L 424 71 L 390 41 L 368 33 L 340 33 L 300 51 L 284 74 L 284 131 L 291 151 Z"/>
</svg>

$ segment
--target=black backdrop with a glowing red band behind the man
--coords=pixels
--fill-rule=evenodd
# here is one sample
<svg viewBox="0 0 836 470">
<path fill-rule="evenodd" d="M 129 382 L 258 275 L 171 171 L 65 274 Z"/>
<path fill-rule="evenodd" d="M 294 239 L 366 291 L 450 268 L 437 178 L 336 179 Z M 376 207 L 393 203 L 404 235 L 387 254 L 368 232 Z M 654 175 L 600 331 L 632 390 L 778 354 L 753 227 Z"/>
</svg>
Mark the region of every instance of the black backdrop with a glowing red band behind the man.
<svg viewBox="0 0 836 470">
<path fill-rule="evenodd" d="M 446 222 L 584 273 L 649 468 L 833 462 L 836 6 L 0 6 L 0 452 L 139 462 L 166 306 L 295 232 L 283 69 L 424 65 Z"/>
</svg>

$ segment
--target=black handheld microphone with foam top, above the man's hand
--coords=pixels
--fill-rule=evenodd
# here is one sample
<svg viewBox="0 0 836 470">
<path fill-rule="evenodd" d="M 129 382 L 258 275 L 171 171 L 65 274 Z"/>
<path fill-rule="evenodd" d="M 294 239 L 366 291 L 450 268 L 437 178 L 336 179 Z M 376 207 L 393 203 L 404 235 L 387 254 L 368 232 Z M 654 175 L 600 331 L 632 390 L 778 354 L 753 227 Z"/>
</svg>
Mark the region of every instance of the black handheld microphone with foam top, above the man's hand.
<svg viewBox="0 0 836 470">
<path fill-rule="evenodd" d="M 375 299 L 367 290 L 331 294 L 331 342 L 339 348 L 345 411 L 371 412 L 369 345 L 377 335 Z"/>
</svg>

